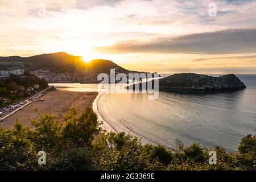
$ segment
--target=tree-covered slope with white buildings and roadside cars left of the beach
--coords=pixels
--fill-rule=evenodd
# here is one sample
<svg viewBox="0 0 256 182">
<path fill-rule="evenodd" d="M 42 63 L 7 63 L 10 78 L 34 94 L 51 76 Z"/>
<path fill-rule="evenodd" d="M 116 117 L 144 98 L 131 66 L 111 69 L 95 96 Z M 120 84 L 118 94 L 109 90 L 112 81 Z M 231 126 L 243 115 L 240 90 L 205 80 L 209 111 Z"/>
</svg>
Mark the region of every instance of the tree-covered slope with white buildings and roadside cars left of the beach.
<svg viewBox="0 0 256 182">
<path fill-rule="evenodd" d="M 0 121 L 39 98 L 49 88 L 46 81 L 24 69 L 0 71 Z"/>
</svg>

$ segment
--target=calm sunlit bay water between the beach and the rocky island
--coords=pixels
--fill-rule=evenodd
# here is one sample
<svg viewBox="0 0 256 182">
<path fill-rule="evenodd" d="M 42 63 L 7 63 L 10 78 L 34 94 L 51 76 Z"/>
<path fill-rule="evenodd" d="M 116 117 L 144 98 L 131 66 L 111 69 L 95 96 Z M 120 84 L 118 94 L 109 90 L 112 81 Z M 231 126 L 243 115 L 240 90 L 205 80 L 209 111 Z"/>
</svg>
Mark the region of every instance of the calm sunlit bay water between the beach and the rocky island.
<svg viewBox="0 0 256 182">
<path fill-rule="evenodd" d="M 142 142 L 175 147 L 199 142 L 236 151 L 240 140 L 256 133 L 256 75 L 237 75 L 245 90 L 204 93 L 160 92 L 158 100 L 147 94 L 100 94 L 97 111 L 115 131 L 126 131 Z M 96 84 L 53 84 L 72 91 L 97 91 Z"/>
</svg>

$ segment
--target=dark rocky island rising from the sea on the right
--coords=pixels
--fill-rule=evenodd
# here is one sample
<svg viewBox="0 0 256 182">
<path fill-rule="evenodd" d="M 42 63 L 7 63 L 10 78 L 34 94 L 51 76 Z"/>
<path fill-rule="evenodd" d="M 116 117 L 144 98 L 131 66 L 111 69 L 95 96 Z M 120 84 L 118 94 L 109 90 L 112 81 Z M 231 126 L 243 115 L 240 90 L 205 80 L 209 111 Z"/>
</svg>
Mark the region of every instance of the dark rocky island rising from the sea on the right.
<svg viewBox="0 0 256 182">
<path fill-rule="evenodd" d="M 154 85 L 154 84 L 152 84 Z M 133 89 L 130 85 L 127 89 Z M 141 88 L 141 83 L 140 83 Z M 178 73 L 159 80 L 159 90 L 241 90 L 246 86 L 235 75 L 213 77 L 196 73 Z"/>
</svg>

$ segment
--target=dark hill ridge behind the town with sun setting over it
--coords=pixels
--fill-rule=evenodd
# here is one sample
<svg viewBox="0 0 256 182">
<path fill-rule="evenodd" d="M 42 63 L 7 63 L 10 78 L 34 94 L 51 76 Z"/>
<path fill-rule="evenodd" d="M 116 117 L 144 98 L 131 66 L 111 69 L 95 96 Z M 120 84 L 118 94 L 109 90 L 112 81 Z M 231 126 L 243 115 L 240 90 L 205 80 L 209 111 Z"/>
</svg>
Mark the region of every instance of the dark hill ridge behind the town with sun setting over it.
<svg viewBox="0 0 256 182">
<path fill-rule="evenodd" d="M 65 52 L 47 53 L 30 57 L 9 56 L 0 57 L 0 69 L 25 68 L 28 71 L 49 69 L 53 72 L 73 72 L 80 69 L 93 69 L 97 72 L 108 73 L 110 68 L 118 72 L 130 72 L 110 60 L 92 60 L 85 63 L 81 56 L 72 56 Z"/>
</svg>

